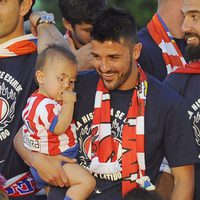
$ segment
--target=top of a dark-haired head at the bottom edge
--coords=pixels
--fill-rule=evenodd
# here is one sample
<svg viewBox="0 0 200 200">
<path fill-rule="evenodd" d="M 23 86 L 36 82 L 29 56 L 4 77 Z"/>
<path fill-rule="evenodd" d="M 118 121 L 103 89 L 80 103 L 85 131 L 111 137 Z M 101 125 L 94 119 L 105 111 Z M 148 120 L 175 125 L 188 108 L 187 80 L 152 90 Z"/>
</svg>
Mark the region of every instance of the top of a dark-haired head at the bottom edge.
<svg viewBox="0 0 200 200">
<path fill-rule="evenodd" d="M 123 200 L 162 200 L 162 198 L 154 191 L 136 188 L 128 192 Z"/>
</svg>

